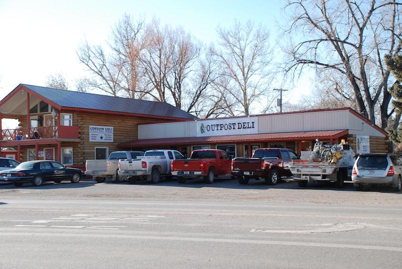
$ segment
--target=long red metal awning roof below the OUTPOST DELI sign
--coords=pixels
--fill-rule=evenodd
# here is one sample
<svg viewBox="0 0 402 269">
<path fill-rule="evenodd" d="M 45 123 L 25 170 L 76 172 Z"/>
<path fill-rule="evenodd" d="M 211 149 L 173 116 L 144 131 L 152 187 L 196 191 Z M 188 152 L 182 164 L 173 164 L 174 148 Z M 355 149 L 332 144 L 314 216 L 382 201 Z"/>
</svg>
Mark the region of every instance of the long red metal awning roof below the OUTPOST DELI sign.
<svg viewBox="0 0 402 269">
<path fill-rule="evenodd" d="M 300 141 L 337 139 L 347 135 L 348 130 L 288 132 L 270 134 L 228 135 L 228 136 L 205 136 L 205 137 L 175 137 L 133 140 L 118 145 L 120 148 L 150 147 L 150 146 L 175 146 L 196 144 L 226 144 L 226 143 L 249 143 L 249 142 L 274 142 L 274 141 Z"/>
</svg>

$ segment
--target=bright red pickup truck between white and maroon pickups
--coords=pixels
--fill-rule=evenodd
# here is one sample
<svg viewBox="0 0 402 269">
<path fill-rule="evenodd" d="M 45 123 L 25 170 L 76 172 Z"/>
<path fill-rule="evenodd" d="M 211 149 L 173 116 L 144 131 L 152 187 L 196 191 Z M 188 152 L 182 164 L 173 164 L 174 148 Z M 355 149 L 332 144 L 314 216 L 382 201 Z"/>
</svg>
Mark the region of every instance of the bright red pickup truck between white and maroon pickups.
<svg viewBox="0 0 402 269">
<path fill-rule="evenodd" d="M 187 178 L 204 176 L 206 183 L 213 183 L 216 176 L 231 176 L 231 157 L 220 149 L 197 149 L 189 159 L 172 161 L 172 175 L 179 183 Z"/>
</svg>

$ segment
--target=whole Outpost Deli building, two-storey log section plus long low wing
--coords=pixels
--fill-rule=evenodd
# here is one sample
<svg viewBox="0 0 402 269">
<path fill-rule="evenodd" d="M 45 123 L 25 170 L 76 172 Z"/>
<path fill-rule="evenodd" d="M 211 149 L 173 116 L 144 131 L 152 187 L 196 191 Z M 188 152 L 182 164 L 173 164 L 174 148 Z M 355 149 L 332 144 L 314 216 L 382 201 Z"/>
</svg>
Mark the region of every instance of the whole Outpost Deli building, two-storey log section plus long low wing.
<svg viewBox="0 0 402 269">
<path fill-rule="evenodd" d="M 200 120 L 167 103 L 20 84 L 0 101 L 0 119 L 19 122 L 16 129 L 0 125 L 0 149 L 7 149 L 0 156 L 79 168 L 115 150 L 176 149 L 189 156 L 217 148 L 234 157 L 277 147 L 299 154 L 316 138 L 345 139 L 356 153 L 388 151 L 386 132 L 350 108 Z"/>
</svg>

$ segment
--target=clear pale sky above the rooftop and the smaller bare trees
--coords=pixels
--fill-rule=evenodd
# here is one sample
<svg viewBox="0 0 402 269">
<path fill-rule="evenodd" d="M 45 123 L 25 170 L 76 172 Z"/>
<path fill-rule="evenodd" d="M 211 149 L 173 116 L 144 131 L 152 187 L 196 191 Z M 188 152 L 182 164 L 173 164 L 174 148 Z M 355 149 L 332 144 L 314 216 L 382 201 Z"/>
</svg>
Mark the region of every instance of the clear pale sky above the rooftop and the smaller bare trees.
<svg viewBox="0 0 402 269">
<path fill-rule="evenodd" d="M 57 73 L 74 87 L 75 79 L 87 75 L 78 62 L 77 46 L 84 39 L 91 44 L 105 42 L 124 13 L 182 25 L 207 44 L 216 39 L 219 24 L 230 26 L 235 19 L 251 19 L 270 29 L 275 44 L 283 4 L 283 0 L 0 0 L 0 98 L 19 83 L 44 85 L 49 75 Z M 292 91 L 292 101 L 297 101 L 309 81 L 304 78 L 300 83 Z"/>
</svg>

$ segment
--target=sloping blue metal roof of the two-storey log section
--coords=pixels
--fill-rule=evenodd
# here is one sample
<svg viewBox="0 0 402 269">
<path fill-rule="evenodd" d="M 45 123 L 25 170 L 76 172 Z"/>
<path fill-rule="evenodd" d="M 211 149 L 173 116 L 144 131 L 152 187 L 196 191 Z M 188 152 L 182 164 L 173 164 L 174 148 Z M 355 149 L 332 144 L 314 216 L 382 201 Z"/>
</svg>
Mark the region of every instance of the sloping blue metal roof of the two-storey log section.
<svg viewBox="0 0 402 269">
<path fill-rule="evenodd" d="M 31 91 L 63 108 L 113 111 L 160 117 L 196 119 L 195 116 L 170 104 L 122 97 L 113 97 L 81 92 L 66 91 L 49 87 L 21 84 Z"/>
</svg>

